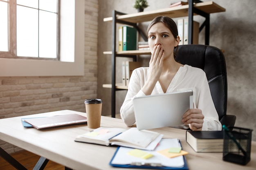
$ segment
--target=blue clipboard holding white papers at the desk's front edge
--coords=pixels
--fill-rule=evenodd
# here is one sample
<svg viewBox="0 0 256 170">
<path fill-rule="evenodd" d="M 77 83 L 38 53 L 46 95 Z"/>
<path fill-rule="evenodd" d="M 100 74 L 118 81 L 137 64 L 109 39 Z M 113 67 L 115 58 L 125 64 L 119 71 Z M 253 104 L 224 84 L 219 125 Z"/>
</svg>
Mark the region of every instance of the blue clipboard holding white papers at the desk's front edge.
<svg viewBox="0 0 256 170">
<path fill-rule="evenodd" d="M 176 140 L 176 141 L 175 141 Z M 175 142 L 175 146 L 173 146 Z M 167 158 L 164 155 L 157 153 L 157 150 L 166 149 L 166 147 L 181 147 L 178 139 L 162 139 L 159 146 L 154 151 L 146 151 L 154 155 L 152 159 L 141 159 L 132 157 L 127 154 L 134 148 L 118 147 L 109 165 L 119 168 L 144 168 L 144 169 L 162 169 L 162 170 L 189 170 L 184 156 L 175 158 Z M 166 164 L 168 163 L 168 165 Z M 172 166 L 173 164 L 173 166 Z"/>
</svg>

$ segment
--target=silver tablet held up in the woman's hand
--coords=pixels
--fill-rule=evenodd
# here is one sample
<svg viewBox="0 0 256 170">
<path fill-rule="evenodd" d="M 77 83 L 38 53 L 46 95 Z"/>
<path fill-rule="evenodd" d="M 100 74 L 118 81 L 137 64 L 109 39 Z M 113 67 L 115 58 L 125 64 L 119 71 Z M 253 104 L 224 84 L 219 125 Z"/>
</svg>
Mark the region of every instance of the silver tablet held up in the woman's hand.
<svg viewBox="0 0 256 170">
<path fill-rule="evenodd" d="M 182 115 L 193 108 L 193 91 L 135 97 L 136 125 L 139 130 L 181 125 Z"/>
</svg>

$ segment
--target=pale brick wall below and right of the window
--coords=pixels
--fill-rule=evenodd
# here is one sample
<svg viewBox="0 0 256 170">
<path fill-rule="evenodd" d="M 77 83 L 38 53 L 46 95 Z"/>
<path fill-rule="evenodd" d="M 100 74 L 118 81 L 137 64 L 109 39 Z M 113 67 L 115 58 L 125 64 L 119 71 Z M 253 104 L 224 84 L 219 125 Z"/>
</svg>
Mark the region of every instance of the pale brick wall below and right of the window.
<svg viewBox="0 0 256 170">
<path fill-rule="evenodd" d="M 85 112 L 84 100 L 97 97 L 98 1 L 85 0 L 84 76 L 0 77 L 0 119 L 56 110 Z M 8 153 L 21 150 L 0 140 Z"/>
</svg>

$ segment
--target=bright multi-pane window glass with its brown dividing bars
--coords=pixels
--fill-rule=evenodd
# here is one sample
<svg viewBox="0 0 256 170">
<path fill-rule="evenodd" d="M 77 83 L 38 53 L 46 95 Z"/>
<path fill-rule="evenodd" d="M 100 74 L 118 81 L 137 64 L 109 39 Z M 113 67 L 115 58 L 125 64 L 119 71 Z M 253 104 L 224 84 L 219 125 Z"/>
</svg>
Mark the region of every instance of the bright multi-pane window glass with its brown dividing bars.
<svg viewBox="0 0 256 170">
<path fill-rule="evenodd" d="M 2 1 L 0 9 L 4 36 L 0 51 L 13 58 L 58 58 L 58 0 Z"/>
</svg>

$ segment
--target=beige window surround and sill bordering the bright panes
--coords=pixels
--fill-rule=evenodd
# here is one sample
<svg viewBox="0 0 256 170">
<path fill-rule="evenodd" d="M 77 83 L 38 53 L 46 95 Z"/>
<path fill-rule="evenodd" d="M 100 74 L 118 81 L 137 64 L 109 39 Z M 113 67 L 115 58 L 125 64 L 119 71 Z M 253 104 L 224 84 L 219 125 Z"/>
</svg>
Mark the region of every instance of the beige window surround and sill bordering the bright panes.
<svg viewBox="0 0 256 170">
<path fill-rule="evenodd" d="M 83 0 L 59 0 L 61 3 L 61 11 L 65 11 L 65 8 L 70 8 L 70 4 L 74 6 L 74 41 L 68 44 L 73 51 L 69 56 L 63 57 L 65 51 L 61 52 L 60 49 L 60 60 L 35 60 L 31 57 L 19 57 L 9 58 L 7 55 L 13 55 L 16 53 L 16 49 L 9 49 L 10 52 L 0 52 L 0 55 L 6 55 L 6 57 L 0 58 L 0 77 L 27 77 L 27 76 L 83 76 L 84 75 L 84 10 L 85 2 Z M 13 1 L 11 1 L 13 3 Z M 70 4 L 68 4 L 70 3 Z M 64 6 L 63 6 L 64 5 Z M 71 7 L 72 7 L 71 5 Z M 60 15 L 61 14 L 60 11 Z M 13 17 L 10 15 L 10 17 Z M 60 19 L 61 20 L 61 19 Z M 59 20 L 59 22 L 60 22 Z M 13 25 L 10 23 L 10 28 L 13 29 Z M 16 26 L 15 26 L 16 27 Z M 15 28 L 16 29 L 16 28 Z M 60 28 L 62 31 L 67 33 L 68 30 Z M 60 31 L 59 31 L 60 32 Z M 15 38 L 13 35 L 9 36 L 9 39 Z M 60 43 L 62 44 L 60 35 Z M 11 40 L 9 40 L 11 42 Z M 64 44 L 64 43 L 63 43 Z M 67 44 L 66 44 L 67 45 Z M 64 49 L 64 48 L 63 48 Z M 65 50 L 68 50 L 65 48 Z M 11 53 L 11 54 L 10 54 Z M 69 54 L 70 54 L 69 53 Z M 40 58 L 40 57 L 36 57 Z M 48 58 L 47 58 L 48 59 Z"/>
</svg>

